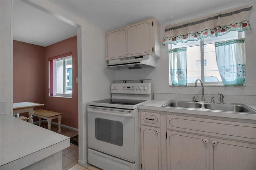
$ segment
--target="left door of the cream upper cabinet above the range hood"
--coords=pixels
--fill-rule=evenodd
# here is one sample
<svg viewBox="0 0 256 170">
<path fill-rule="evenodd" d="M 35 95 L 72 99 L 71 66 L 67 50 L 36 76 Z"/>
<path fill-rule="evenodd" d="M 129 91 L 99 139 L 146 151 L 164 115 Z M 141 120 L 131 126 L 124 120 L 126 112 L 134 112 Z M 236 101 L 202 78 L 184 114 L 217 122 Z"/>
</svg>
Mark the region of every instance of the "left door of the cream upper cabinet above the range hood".
<svg viewBox="0 0 256 170">
<path fill-rule="evenodd" d="M 125 57 L 126 28 L 107 32 L 106 60 Z"/>
</svg>

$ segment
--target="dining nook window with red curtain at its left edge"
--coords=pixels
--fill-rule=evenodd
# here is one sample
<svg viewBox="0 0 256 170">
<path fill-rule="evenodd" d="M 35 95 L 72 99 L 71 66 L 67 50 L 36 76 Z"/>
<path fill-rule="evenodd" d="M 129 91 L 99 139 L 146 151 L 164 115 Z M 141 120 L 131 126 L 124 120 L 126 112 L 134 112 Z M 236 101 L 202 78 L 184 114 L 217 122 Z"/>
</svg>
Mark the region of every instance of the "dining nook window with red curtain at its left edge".
<svg viewBox="0 0 256 170">
<path fill-rule="evenodd" d="M 72 97 L 71 53 L 49 58 L 50 96 Z"/>
</svg>

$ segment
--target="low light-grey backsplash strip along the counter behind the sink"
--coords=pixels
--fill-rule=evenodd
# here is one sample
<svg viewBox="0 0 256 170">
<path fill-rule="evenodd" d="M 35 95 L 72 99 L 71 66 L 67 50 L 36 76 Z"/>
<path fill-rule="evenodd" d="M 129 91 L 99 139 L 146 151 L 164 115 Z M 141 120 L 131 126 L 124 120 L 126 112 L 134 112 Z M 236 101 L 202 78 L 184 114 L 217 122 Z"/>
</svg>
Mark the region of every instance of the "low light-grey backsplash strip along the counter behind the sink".
<svg viewBox="0 0 256 170">
<path fill-rule="evenodd" d="M 254 95 L 224 95 L 224 103 L 240 103 L 240 104 L 256 104 L 256 96 Z M 155 100 L 176 100 L 176 101 L 192 101 L 193 96 L 196 100 L 201 100 L 201 94 L 174 94 L 174 93 L 154 93 L 153 99 Z M 220 103 L 220 96 L 204 95 L 205 101 L 210 101 L 214 96 L 215 103 Z"/>
</svg>

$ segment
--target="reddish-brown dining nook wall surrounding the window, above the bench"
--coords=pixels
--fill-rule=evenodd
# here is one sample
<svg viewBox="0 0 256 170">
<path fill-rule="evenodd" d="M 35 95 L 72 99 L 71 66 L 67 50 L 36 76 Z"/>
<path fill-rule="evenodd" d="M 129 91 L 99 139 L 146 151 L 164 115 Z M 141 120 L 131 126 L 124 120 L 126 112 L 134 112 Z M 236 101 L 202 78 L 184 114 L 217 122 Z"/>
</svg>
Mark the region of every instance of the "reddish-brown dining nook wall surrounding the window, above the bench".
<svg viewBox="0 0 256 170">
<path fill-rule="evenodd" d="M 57 55 L 72 53 L 72 99 L 63 97 L 49 97 L 49 79 L 48 79 L 48 58 Z M 44 91 L 45 93 L 45 109 L 63 113 L 61 124 L 70 127 L 78 128 L 78 83 L 76 83 L 77 73 L 77 36 L 68 38 L 61 42 L 45 47 L 45 80 Z M 53 120 L 54 121 L 54 120 Z M 56 121 L 57 122 L 57 121 Z"/>
</svg>

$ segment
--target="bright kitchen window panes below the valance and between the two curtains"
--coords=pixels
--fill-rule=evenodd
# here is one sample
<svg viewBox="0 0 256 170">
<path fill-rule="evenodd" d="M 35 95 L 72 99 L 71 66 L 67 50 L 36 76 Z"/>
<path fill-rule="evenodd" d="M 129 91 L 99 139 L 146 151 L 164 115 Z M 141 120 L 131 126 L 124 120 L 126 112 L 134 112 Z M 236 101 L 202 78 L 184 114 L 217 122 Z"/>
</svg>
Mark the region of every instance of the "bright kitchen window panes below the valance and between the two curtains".
<svg viewBox="0 0 256 170">
<path fill-rule="evenodd" d="M 244 32 L 231 31 L 218 37 L 202 38 L 187 43 L 169 44 L 169 49 L 186 47 L 187 83 L 201 79 L 205 84 L 222 85 L 216 61 L 215 42 L 244 38 Z M 201 61 L 204 61 L 201 63 Z M 170 77 L 170 85 L 172 85 Z"/>
</svg>

